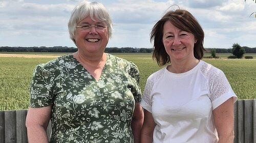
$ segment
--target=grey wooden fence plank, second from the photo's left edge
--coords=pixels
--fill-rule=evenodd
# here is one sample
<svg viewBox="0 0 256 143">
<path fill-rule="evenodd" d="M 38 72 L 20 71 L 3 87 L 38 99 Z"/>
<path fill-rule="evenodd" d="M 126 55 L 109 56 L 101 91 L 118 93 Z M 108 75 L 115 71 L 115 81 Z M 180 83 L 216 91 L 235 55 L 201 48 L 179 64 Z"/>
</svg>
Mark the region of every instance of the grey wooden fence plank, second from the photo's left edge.
<svg viewBox="0 0 256 143">
<path fill-rule="evenodd" d="M 16 143 L 16 111 L 5 111 L 5 142 Z"/>
</svg>

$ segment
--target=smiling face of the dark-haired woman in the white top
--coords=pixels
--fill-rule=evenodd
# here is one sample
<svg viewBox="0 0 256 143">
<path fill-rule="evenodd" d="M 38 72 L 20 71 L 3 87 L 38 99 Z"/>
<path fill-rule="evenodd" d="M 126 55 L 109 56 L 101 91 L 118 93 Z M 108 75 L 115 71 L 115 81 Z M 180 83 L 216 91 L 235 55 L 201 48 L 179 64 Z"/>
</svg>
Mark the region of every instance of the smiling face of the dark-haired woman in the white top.
<svg viewBox="0 0 256 143">
<path fill-rule="evenodd" d="M 182 31 L 170 21 L 163 26 L 163 45 L 172 62 L 193 60 L 195 36 L 192 33 Z"/>
</svg>

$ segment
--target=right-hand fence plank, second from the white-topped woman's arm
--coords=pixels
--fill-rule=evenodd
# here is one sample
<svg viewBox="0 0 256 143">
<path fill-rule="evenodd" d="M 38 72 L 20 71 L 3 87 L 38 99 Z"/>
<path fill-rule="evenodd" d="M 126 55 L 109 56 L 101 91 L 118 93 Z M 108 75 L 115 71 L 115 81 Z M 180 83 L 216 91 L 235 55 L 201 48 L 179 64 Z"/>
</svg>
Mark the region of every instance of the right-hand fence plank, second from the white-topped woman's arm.
<svg viewBox="0 0 256 143">
<path fill-rule="evenodd" d="M 252 142 L 252 100 L 244 100 L 244 139 Z"/>
</svg>

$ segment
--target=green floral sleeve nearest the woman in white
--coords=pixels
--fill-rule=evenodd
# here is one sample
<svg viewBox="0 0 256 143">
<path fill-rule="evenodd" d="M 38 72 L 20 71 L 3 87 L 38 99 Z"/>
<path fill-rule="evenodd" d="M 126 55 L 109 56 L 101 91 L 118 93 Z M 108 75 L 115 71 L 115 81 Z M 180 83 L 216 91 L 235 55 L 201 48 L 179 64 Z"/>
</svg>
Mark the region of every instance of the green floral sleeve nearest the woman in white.
<svg viewBox="0 0 256 143">
<path fill-rule="evenodd" d="M 141 90 L 139 87 L 140 73 L 139 73 L 138 67 L 132 62 L 131 62 L 131 69 L 129 71 L 129 74 L 133 78 L 134 85 L 131 87 L 131 91 L 133 93 L 135 102 L 140 102 L 141 101 Z"/>
</svg>

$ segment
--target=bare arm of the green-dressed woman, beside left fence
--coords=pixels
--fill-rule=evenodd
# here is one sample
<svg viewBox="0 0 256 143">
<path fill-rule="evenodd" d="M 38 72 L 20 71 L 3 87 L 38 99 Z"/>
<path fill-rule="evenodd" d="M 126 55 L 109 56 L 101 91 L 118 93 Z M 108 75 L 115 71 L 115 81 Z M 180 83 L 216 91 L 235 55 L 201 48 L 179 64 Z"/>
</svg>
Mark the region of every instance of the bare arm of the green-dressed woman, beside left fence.
<svg viewBox="0 0 256 143">
<path fill-rule="evenodd" d="M 50 121 L 50 115 L 51 106 L 42 108 L 29 108 L 26 118 L 29 143 L 49 142 L 46 129 Z"/>
</svg>

